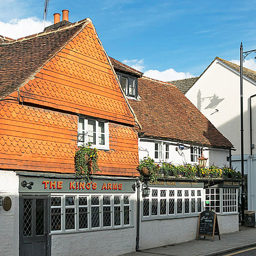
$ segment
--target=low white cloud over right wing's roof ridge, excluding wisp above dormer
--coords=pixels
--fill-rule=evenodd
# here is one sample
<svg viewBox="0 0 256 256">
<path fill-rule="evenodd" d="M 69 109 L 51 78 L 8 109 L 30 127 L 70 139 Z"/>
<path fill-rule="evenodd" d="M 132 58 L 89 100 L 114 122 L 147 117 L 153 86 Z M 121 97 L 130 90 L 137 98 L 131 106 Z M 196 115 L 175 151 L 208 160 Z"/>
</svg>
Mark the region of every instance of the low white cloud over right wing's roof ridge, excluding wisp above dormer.
<svg viewBox="0 0 256 256">
<path fill-rule="evenodd" d="M 154 78 L 161 81 L 172 81 L 172 80 L 179 80 L 189 77 L 195 77 L 193 74 L 189 72 L 177 72 L 174 69 L 167 69 L 164 71 L 159 70 L 147 70 L 144 72 L 144 76 Z"/>
</svg>

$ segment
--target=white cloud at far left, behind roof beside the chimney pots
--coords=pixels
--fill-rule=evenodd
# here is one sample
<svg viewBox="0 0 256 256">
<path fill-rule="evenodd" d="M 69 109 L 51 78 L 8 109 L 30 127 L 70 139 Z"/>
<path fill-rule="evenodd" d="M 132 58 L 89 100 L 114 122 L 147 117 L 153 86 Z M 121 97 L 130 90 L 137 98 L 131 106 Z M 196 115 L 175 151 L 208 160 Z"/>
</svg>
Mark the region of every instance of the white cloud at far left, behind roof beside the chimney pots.
<svg viewBox="0 0 256 256">
<path fill-rule="evenodd" d="M 44 20 L 37 17 L 12 19 L 8 23 L 0 22 L 0 35 L 17 39 L 44 31 Z M 46 27 L 52 25 L 46 21 Z"/>
</svg>

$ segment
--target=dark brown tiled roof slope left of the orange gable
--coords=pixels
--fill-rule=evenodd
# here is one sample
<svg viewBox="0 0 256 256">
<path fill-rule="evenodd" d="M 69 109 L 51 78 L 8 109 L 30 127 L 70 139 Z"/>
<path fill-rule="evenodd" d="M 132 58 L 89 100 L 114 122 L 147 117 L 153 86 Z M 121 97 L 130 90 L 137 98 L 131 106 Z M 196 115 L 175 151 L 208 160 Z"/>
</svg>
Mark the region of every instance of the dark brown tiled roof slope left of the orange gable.
<svg viewBox="0 0 256 256">
<path fill-rule="evenodd" d="M 86 22 L 8 42 L 1 37 L 4 42 L 0 44 L 0 100 L 33 78 Z"/>
</svg>

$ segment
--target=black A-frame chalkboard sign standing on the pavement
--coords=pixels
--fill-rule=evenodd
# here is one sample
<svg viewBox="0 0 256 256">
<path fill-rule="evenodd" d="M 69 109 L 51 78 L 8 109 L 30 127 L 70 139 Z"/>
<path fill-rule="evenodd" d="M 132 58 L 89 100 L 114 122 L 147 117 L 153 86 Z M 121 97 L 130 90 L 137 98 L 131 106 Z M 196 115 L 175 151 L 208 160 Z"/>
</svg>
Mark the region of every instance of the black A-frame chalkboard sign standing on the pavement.
<svg viewBox="0 0 256 256">
<path fill-rule="evenodd" d="M 219 236 L 220 240 L 221 238 L 217 214 L 209 210 L 202 211 L 199 215 L 197 240 L 200 236 L 204 236 L 204 238 L 212 237 L 212 241 L 214 241 L 215 234 Z"/>
</svg>

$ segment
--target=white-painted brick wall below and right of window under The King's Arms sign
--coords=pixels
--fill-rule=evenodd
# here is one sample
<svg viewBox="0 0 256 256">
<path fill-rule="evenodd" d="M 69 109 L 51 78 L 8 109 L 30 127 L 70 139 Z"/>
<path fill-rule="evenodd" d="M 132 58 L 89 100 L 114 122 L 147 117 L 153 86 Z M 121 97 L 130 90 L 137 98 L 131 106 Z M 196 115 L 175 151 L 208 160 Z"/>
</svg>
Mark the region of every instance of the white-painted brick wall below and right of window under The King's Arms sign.
<svg viewBox="0 0 256 256">
<path fill-rule="evenodd" d="M 137 191 L 131 197 L 132 226 L 98 231 L 53 234 L 52 256 L 115 256 L 135 251 Z"/>
</svg>

